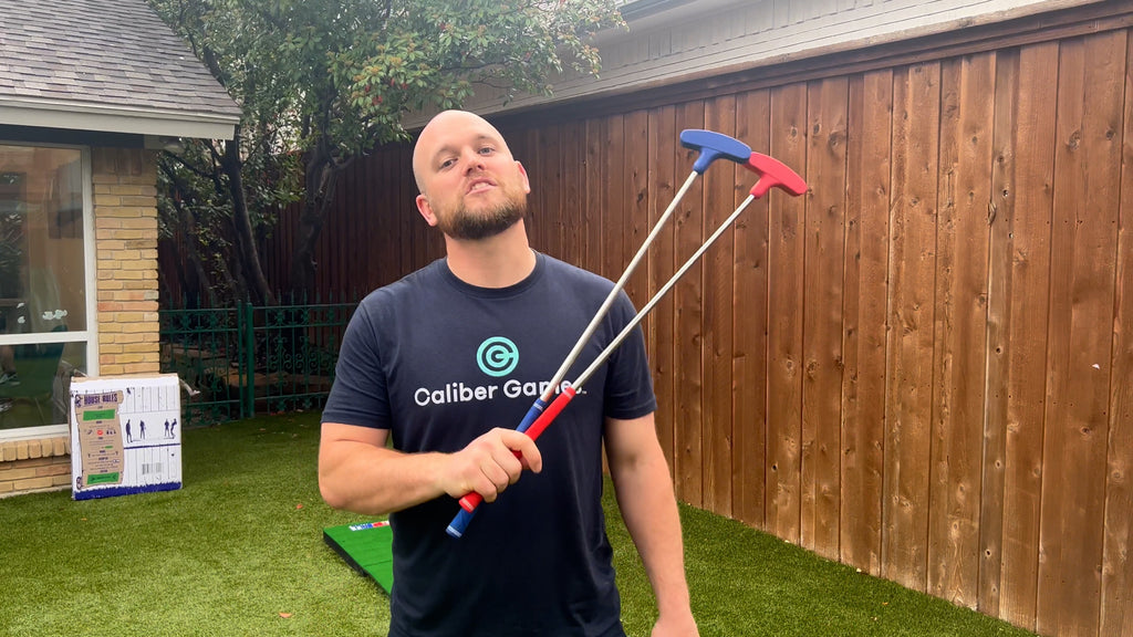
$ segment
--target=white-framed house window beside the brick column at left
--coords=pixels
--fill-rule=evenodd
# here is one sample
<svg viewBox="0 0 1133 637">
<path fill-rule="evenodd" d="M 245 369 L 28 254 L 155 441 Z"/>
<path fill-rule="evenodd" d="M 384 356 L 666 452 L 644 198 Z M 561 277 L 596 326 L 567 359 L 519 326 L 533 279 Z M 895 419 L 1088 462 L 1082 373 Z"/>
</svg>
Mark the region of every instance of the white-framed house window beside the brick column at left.
<svg viewBox="0 0 1133 637">
<path fill-rule="evenodd" d="M 90 154 L 0 144 L 0 440 L 67 431 L 92 372 Z"/>
</svg>

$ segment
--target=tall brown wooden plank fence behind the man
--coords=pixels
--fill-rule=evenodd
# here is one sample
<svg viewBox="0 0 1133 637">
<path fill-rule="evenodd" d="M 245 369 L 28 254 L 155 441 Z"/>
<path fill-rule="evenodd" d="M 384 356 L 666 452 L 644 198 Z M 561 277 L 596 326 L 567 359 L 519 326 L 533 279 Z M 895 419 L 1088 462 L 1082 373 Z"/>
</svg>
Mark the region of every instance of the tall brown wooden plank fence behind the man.
<svg viewBox="0 0 1133 637">
<path fill-rule="evenodd" d="M 689 173 L 684 128 L 810 184 L 646 324 L 682 501 L 1043 635 L 1133 636 L 1133 9 L 1105 9 L 500 122 L 535 247 L 611 278 Z M 323 289 L 442 254 L 409 164 L 342 179 Z M 639 306 L 752 184 L 697 181 Z"/>
</svg>

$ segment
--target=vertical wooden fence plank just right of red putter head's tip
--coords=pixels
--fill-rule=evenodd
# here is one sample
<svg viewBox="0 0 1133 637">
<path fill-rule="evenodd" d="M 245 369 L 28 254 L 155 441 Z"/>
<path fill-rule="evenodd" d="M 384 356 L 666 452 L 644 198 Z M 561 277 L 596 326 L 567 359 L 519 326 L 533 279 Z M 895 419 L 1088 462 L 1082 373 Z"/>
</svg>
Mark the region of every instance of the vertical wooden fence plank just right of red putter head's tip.
<svg viewBox="0 0 1133 637">
<path fill-rule="evenodd" d="M 849 79 L 810 84 L 802 288 L 801 541 L 838 557 Z M 776 193 L 772 196 L 785 196 Z"/>
</svg>

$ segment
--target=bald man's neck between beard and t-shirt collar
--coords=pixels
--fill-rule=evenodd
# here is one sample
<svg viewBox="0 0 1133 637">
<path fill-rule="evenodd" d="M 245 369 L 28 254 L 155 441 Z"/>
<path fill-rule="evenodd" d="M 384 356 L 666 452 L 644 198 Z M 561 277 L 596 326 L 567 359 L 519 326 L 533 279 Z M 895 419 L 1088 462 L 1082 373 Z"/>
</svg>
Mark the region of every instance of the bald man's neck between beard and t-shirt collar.
<svg viewBox="0 0 1133 637">
<path fill-rule="evenodd" d="M 449 270 L 470 286 L 506 288 L 535 270 L 535 253 L 527 243 L 522 220 L 487 239 L 470 241 L 446 236 L 444 244 Z"/>
</svg>

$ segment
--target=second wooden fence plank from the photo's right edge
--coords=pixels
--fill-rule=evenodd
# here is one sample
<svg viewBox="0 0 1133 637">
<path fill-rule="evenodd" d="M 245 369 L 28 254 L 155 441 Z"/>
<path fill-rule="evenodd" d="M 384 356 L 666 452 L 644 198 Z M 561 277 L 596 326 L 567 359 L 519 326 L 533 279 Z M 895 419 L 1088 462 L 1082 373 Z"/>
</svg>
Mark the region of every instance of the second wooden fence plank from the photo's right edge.
<svg viewBox="0 0 1133 637">
<path fill-rule="evenodd" d="M 1062 44 L 1038 628 L 1096 635 L 1125 32 Z"/>
</svg>

